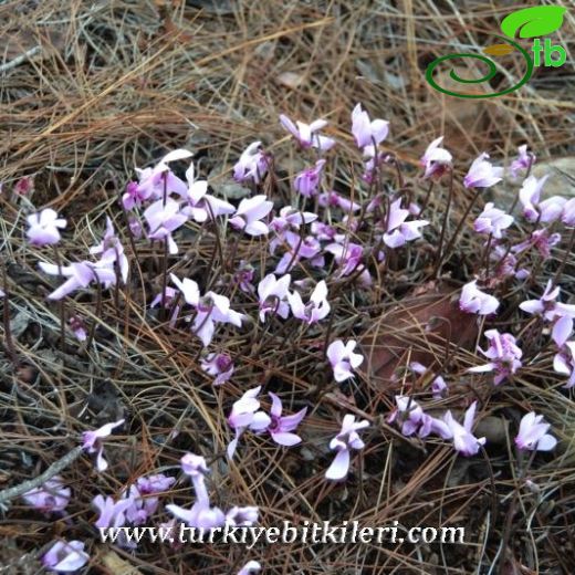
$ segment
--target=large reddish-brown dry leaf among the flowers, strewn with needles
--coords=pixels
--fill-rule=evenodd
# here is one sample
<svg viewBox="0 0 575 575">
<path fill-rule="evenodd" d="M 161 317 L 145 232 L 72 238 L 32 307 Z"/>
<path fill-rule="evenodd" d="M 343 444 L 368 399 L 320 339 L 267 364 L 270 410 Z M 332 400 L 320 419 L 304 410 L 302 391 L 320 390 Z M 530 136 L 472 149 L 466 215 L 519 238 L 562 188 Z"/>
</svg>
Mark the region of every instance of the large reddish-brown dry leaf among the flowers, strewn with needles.
<svg viewBox="0 0 575 575">
<path fill-rule="evenodd" d="M 394 383 L 408 362 L 438 368 L 449 344 L 470 348 L 478 336 L 477 317 L 461 312 L 459 289 L 435 283 L 415 289 L 362 337 L 364 375 L 374 387 Z M 454 300 L 454 301 L 453 301 Z"/>
</svg>

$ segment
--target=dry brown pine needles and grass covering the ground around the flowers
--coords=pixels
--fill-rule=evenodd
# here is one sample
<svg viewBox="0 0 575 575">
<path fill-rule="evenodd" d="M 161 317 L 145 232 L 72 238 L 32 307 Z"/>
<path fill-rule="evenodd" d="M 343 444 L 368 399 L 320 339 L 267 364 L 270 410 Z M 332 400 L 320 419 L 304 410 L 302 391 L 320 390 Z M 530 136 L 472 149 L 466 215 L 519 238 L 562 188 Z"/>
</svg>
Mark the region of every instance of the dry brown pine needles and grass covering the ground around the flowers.
<svg viewBox="0 0 575 575">
<path fill-rule="evenodd" d="M 342 189 L 354 189 L 349 166 L 358 169 L 359 157 L 348 135 L 349 112 L 357 102 L 373 116 L 391 122 L 386 144 L 407 166 L 406 176 L 415 175 L 409 166 L 417 166 L 427 144 L 440 134 L 446 135 L 461 174 L 478 153 L 488 150 L 500 164 L 524 142 L 541 159 L 573 155 L 569 65 L 541 69 L 521 92 L 482 102 L 449 98 L 425 82 L 427 63 L 448 50 L 487 43 L 496 22 L 513 8 L 513 2 L 494 7 L 470 1 L 463 7 L 422 0 L 397 7 L 339 0 L 7 2 L 0 7 L 4 62 L 0 181 L 9 190 L 23 176 L 33 176 L 34 206 L 52 206 L 69 219 L 62 252 L 75 260 L 100 237 L 105 213 L 117 228 L 125 228 L 117 199 L 134 166 L 148 165 L 175 147 L 196 151 L 202 172 L 218 175 L 216 187 L 228 180 L 244 146 L 263 139 L 276 151 L 280 190 L 289 195 L 288 177 L 300 160 L 284 145 L 280 113 L 330 121 L 331 135 L 341 142 L 330 174 Z M 573 14 L 561 38 L 572 54 Z M 10 64 L 22 53 L 30 58 Z M 387 176 L 389 186 L 396 186 L 395 174 Z M 409 186 L 421 200 L 424 187 L 417 180 Z M 436 232 L 445 194 L 435 190 L 428 208 Z M 505 200 L 511 203 L 512 196 Z M 447 237 L 468 201 L 456 188 Z M 32 250 L 23 240 L 24 200 L 4 195 L 1 209 L 1 258 L 19 366 L 14 368 L 8 357 L 0 363 L 0 488 L 35 477 L 73 449 L 82 430 L 126 417 L 129 435 L 115 436 L 107 447 L 108 472 L 96 474 L 88 458 L 81 458 L 64 473 L 74 492 L 69 508 L 72 525 L 31 514 L 14 502 L 0 523 L 0 562 L 13 566 L 14 557 L 23 557 L 13 568 L 34 573 L 33 555 L 24 554 L 64 535 L 88 542 L 91 573 L 119 573 L 119 567 L 109 566 L 107 548 L 96 541 L 90 500 L 98 492 L 118 494 L 142 474 L 174 473 L 181 454 L 194 451 L 211 462 L 216 503 L 259 505 L 264 525 L 327 519 L 385 525 L 397 520 L 405 526 L 466 526 L 468 543 L 397 548 L 263 545 L 251 552 L 233 545 L 181 551 L 149 545 L 135 556 L 116 550 L 124 558 L 123 568 L 219 575 L 236 573 L 248 558 L 258 558 L 264 573 L 278 574 L 573 572 L 574 405 L 551 369 L 548 349 L 540 351 L 534 343 L 529 367 L 514 385 L 493 390 L 484 378 L 466 376 L 473 356 L 450 337 L 453 349 L 443 368 L 452 393 L 448 400 L 431 405 L 457 410 L 477 395 L 484 406 L 482 418 L 500 416 L 512 429 L 527 410 L 544 412 L 563 441 L 556 457 L 536 458 L 530 471 L 541 489 L 535 494 L 518 488 L 509 437 L 488 448 L 491 468 L 479 456 L 458 458 L 439 442 L 436 447 L 406 440 L 384 417 L 394 394 L 411 383 L 374 385 L 359 378 L 339 388 L 314 351 L 326 337 L 360 337 L 381 316 L 393 314 L 410 290 L 430 280 L 432 240 L 429 248 L 418 244 L 407 250 L 405 260 L 386 270 L 385 281 L 373 292 L 355 285 L 341 289 L 330 333 L 322 328 L 302 335 L 295 323 L 272 324 L 265 332 L 255 324 L 241 332 L 221 332 L 218 341 L 238 370 L 233 383 L 215 389 L 199 368 L 198 341 L 184 328 L 167 330 L 144 306 L 159 289 L 157 254 L 145 242 L 138 243 L 138 260 L 132 260 L 132 282 L 119 293 L 119 307 L 113 294 L 105 294 L 100 315 L 92 297 L 69 302 L 96 325 L 96 333 L 88 352 L 79 353 L 71 341 L 61 352 L 59 310 L 46 303 L 49 282 L 35 266 L 51 254 Z M 220 269 L 213 233 L 197 232 L 191 226 L 189 240 L 180 243 L 185 255 L 170 261 L 170 270 L 203 278 L 202 291 L 218 282 L 224 289 L 228 276 Z M 242 239 L 239 245 L 232 238 L 221 241 L 223 253 L 234 253 L 238 261 L 260 250 L 257 240 Z M 456 283 L 468 278 L 478 264 L 478 249 L 477 239 L 464 230 L 445 265 L 446 275 Z M 546 274 L 567 255 L 565 245 L 555 250 L 541 268 L 537 284 L 544 285 Z M 566 297 L 573 295 L 573 274 L 569 257 L 562 280 Z M 536 285 L 532 288 L 539 293 Z M 521 295 L 509 292 L 510 314 L 501 322 L 514 333 L 526 324 L 515 313 Z M 253 311 L 253 301 L 240 301 L 244 310 Z M 412 352 L 412 330 L 398 328 L 394 338 Z M 440 362 L 445 357 L 445 346 L 437 341 L 424 337 L 417 345 Z M 255 385 L 281 390 L 293 410 L 313 407 L 302 429 L 304 453 L 247 437 L 236 462 L 227 462 L 230 431 L 222 415 Z M 417 385 L 414 390 L 422 391 Z M 326 484 L 326 445 L 344 412 L 366 417 L 373 426 L 355 462 L 359 471 L 343 485 Z M 516 515 L 509 525 L 513 498 Z M 181 505 L 192 501 L 184 479 L 174 499 Z"/>
</svg>

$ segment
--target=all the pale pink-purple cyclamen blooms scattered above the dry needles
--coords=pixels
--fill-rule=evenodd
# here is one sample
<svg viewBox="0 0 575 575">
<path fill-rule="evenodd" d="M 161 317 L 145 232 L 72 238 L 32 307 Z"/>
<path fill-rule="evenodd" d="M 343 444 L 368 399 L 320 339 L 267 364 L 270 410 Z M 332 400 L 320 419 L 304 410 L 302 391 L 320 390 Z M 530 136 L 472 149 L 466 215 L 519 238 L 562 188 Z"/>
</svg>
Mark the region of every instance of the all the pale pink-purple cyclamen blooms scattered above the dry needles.
<svg viewBox="0 0 575 575">
<path fill-rule="evenodd" d="M 389 258 L 390 250 L 400 249 L 407 242 L 422 236 L 429 222 L 418 219 L 421 209 L 408 202 L 401 195 L 387 197 L 377 191 L 369 201 L 362 203 L 345 198 L 332 189 L 325 189 L 323 172 L 326 166 L 325 154 L 336 146 L 336 142 L 321 132 L 327 123 L 323 119 L 304 124 L 292 122 L 281 116 L 282 126 L 295 138 L 300 148 L 315 148 L 320 156 L 314 157 L 310 166 L 295 175 L 293 189 L 296 192 L 296 206 L 283 206 L 274 209 L 274 203 L 263 194 L 254 194 L 239 202 L 238 207 L 208 194 L 206 180 L 198 179 L 194 163 L 185 172 L 185 179 L 178 177 L 170 164 L 187 160 L 192 155 L 188 150 L 170 151 L 153 167 L 136 169 L 138 179 L 128 184 L 122 197 L 122 208 L 129 221 L 129 233 L 135 240 L 146 237 L 165 248 L 165 254 L 176 255 L 179 252 L 177 232 L 188 222 L 196 224 L 228 226 L 230 232 L 244 233 L 253 238 L 265 238 L 273 269 L 262 270 L 259 281 L 252 262 L 240 261 L 233 270 L 233 281 L 239 292 L 257 302 L 260 323 L 286 321 L 290 314 L 302 323 L 302 328 L 315 330 L 316 324 L 325 322 L 332 313 L 330 303 L 331 288 L 341 281 L 356 280 L 363 286 L 373 283 L 369 262 L 381 263 Z M 358 104 L 352 113 L 352 134 L 364 160 L 363 179 L 369 189 L 375 186 L 381 170 L 395 161 L 391 155 L 379 149 L 387 138 L 389 124 L 383 119 L 372 121 Z M 452 155 L 442 147 L 442 137 L 435 139 L 421 157 L 422 178 L 440 180 L 446 174 L 453 174 Z M 460 309 L 470 314 L 492 316 L 500 309 L 500 301 L 489 293 L 494 291 L 504 280 L 523 280 L 529 275 L 526 269 L 520 268 L 526 253 L 533 251 L 544 258 L 561 236 L 555 223 L 575 226 L 575 199 L 565 200 L 552 197 L 541 200 L 546 178 L 537 179 L 529 176 L 535 157 L 526 146 L 520 147 L 520 155 L 513 161 L 511 171 L 514 176 L 527 174 L 524 179 L 519 200 L 523 207 L 523 216 L 533 224 L 526 239 L 516 244 L 508 243 L 508 231 L 514 222 L 510 213 L 487 203 L 482 213 L 475 219 L 473 228 L 477 233 L 487 238 L 485 258 L 490 273 L 484 270 L 461 290 Z M 273 158 L 265 151 L 260 142 L 254 142 L 241 154 L 233 168 L 237 181 L 249 185 L 261 191 L 261 184 L 273 168 Z M 489 156 L 481 154 L 471 165 L 463 184 L 468 188 L 487 188 L 498 184 L 503 177 L 503 168 L 494 167 Z M 373 195 L 372 195 L 373 196 Z M 303 208 L 314 200 L 317 213 L 304 211 Z M 369 219 L 369 221 L 368 221 Z M 341 223 L 334 224 L 334 221 Z M 128 282 L 129 265 L 122 242 L 114 230 L 112 220 L 106 220 L 106 231 L 100 243 L 90 250 L 91 259 L 63 265 L 59 262 L 58 243 L 61 230 L 66 221 L 59 218 L 51 209 L 28 218 L 28 238 L 32 245 L 53 247 L 56 263 L 41 262 L 40 268 L 49 274 L 61 275 L 65 281 L 49 299 L 62 300 L 80 289 L 96 284 L 98 290 L 117 286 L 119 281 Z M 362 226 L 364 228 L 362 228 Z M 357 243 L 357 232 L 370 226 L 375 238 L 373 245 Z M 355 241 L 354 241 L 355 240 Z M 294 280 L 300 265 L 309 265 L 325 274 L 325 279 Z M 334 270 L 330 271 L 330 265 Z M 268 273 L 266 273 L 268 272 Z M 218 286 L 201 293 L 200 285 L 191 278 L 169 275 L 171 284 L 165 278 L 160 293 L 155 294 L 150 307 L 169 310 L 169 325 L 177 327 L 189 323 L 191 333 L 201 341 L 205 347 L 200 360 L 201 369 L 213 377 L 213 385 L 221 386 L 233 377 L 236 366 L 232 357 L 226 352 L 210 349 L 219 325 L 231 325 L 241 328 L 247 320 L 245 314 L 232 309 L 240 305 L 230 297 L 218 293 Z M 0 293 L 0 296 L 2 294 Z M 530 300 L 521 304 L 521 309 L 530 314 L 537 314 L 541 323 L 548 324 L 552 338 L 557 346 L 554 359 L 555 370 L 568 376 L 567 386 L 575 385 L 575 341 L 569 341 L 573 332 L 575 305 L 557 301 L 560 286 L 550 282 L 540 300 Z M 184 302 L 180 300 L 184 299 Z M 76 337 L 85 339 L 85 330 L 77 317 L 70 320 L 70 326 Z M 488 358 L 484 365 L 471 367 L 471 373 L 493 373 L 494 385 L 510 380 L 522 367 L 522 351 L 515 337 L 510 333 L 488 330 L 484 333 L 489 342 L 481 354 Z M 356 353 L 356 342 L 332 341 L 325 353 L 336 383 L 345 381 L 354 376 L 364 357 Z M 417 374 L 427 373 L 421 364 L 411 364 Z M 449 393 L 448 385 L 441 375 L 435 374 L 431 390 L 433 397 L 440 398 Z M 307 408 L 295 414 L 284 414 L 280 397 L 269 393 L 270 409 L 261 408 L 259 395 L 261 386 L 248 389 L 238 399 L 227 418 L 233 431 L 228 446 L 228 457 L 233 458 L 240 438 L 247 431 L 260 437 L 269 437 L 282 447 L 301 443 L 296 433 L 297 427 L 305 418 Z M 396 397 L 397 408 L 389 417 L 401 432 L 407 436 L 426 438 L 436 435 L 452 441 L 454 449 L 463 456 L 475 454 L 485 443 L 484 438 L 473 435 L 477 404 L 466 411 L 463 424 L 460 424 L 447 411 L 435 418 L 407 396 Z M 103 456 L 103 441 L 124 421 L 107 424 L 95 431 L 84 435 L 83 447 L 87 453 L 95 454 L 96 468 L 104 471 L 107 462 Z M 345 479 L 351 467 L 351 454 L 365 447 L 359 432 L 369 427 L 367 420 L 356 420 L 347 414 L 343 417 L 341 430 L 330 441 L 328 447 L 335 457 L 325 472 L 328 480 Z M 530 412 L 523 417 L 515 445 L 522 450 L 550 450 L 556 440 L 547 431 L 550 425 L 542 416 Z M 181 470 L 191 478 L 196 502 L 190 509 L 167 505 L 166 509 L 175 518 L 194 526 L 218 526 L 226 523 L 250 525 L 258 521 L 258 508 L 231 508 L 227 512 L 211 504 L 206 487 L 207 463 L 203 458 L 188 453 L 181 459 Z M 98 512 L 95 526 L 122 526 L 125 524 L 143 524 L 158 509 L 158 495 L 167 491 L 175 478 L 164 474 L 139 478 L 117 500 L 112 496 L 96 495 L 93 506 Z M 53 478 L 42 488 L 25 495 L 25 501 L 48 513 L 62 513 L 71 496 L 60 477 Z M 172 520 L 175 521 L 175 520 Z M 128 545 L 128 542 L 123 544 Z M 56 572 L 70 572 L 80 568 L 88 561 L 82 542 L 58 542 L 44 556 L 46 567 Z M 250 562 L 240 573 L 258 569 L 259 564 Z"/>
</svg>

